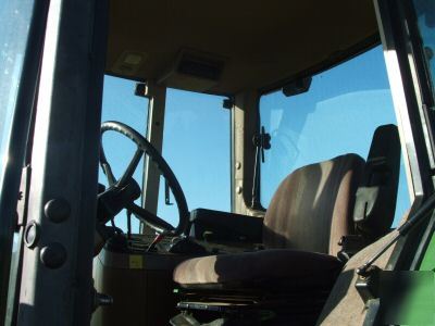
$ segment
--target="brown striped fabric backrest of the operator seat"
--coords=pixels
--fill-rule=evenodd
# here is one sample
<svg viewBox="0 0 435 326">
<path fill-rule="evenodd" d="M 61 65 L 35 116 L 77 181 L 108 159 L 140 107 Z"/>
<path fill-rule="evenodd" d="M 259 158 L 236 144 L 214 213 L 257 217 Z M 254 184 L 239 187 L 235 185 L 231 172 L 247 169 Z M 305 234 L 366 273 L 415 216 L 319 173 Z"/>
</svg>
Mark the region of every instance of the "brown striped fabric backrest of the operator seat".
<svg viewBox="0 0 435 326">
<path fill-rule="evenodd" d="M 364 163 L 357 154 L 345 154 L 287 176 L 264 216 L 264 246 L 336 255 L 339 239 L 355 228 L 355 196 Z"/>
</svg>

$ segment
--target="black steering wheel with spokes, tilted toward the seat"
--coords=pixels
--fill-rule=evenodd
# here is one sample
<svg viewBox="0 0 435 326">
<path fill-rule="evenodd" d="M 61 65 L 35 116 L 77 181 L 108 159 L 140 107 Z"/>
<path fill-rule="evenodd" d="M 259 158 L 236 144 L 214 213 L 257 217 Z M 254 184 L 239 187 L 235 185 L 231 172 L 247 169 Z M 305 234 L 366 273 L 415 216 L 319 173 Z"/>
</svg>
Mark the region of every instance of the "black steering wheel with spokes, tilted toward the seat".
<svg viewBox="0 0 435 326">
<path fill-rule="evenodd" d="M 120 133 L 129 139 L 132 139 L 136 146 L 136 152 L 129 162 L 127 168 L 125 170 L 124 174 L 121 176 L 120 179 L 115 179 L 112 170 L 110 167 L 109 162 L 105 159 L 104 150 L 102 147 L 102 135 L 105 131 L 116 131 Z M 108 178 L 110 187 L 119 187 L 123 188 L 128 183 L 133 180 L 133 174 L 140 162 L 140 159 L 144 154 L 149 156 L 149 162 L 153 162 L 158 168 L 160 170 L 163 177 L 166 179 L 169 187 L 174 195 L 175 202 L 178 208 L 179 214 L 179 223 L 178 226 L 173 227 L 171 224 L 162 220 L 161 217 L 152 214 L 151 212 L 142 209 L 141 206 L 135 204 L 133 201 L 129 202 L 125 208 L 129 210 L 141 222 L 146 223 L 150 227 L 152 227 L 159 234 L 164 235 L 173 235 L 178 236 L 182 235 L 188 225 L 189 222 L 189 211 L 187 208 L 186 197 L 184 196 L 183 189 L 179 186 L 177 178 L 175 177 L 174 173 L 172 172 L 171 167 L 167 165 L 166 161 L 162 158 L 158 150 L 139 133 L 137 133 L 132 127 L 116 122 L 116 121 L 109 121 L 104 122 L 101 125 L 101 146 L 100 146 L 100 164 L 101 167 Z"/>
</svg>

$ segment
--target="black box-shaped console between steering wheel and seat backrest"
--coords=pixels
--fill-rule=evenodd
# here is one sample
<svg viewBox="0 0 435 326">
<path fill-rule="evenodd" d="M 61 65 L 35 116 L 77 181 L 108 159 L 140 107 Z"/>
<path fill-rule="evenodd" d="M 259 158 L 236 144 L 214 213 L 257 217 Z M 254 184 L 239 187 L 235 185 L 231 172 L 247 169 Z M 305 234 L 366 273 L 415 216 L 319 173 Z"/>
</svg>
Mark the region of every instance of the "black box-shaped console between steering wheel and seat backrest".
<svg viewBox="0 0 435 326">
<path fill-rule="evenodd" d="M 261 243 L 263 218 L 197 209 L 190 213 L 189 235 L 210 242 Z"/>
</svg>

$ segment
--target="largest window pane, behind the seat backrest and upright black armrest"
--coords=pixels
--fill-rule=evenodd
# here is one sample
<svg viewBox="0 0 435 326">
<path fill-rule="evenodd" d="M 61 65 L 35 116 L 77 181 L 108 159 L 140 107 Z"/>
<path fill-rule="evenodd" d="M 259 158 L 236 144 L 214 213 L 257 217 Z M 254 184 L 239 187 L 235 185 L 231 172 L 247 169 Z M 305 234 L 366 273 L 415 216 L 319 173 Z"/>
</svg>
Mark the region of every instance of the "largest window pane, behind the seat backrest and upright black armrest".
<svg viewBox="0 0 435 326">
<path fill-rule="evenodd" d="M 281 91 L 260 100 L 261 124 L 272 148 L 261 167 L 261 202 L 296 168 L 345 153 L 366 158 L 377 126 L 396 124 L 381 47 L 313 76 L 308 92 Z M 401 164 L 394 224 L 410 204 Z"/>
</svg>

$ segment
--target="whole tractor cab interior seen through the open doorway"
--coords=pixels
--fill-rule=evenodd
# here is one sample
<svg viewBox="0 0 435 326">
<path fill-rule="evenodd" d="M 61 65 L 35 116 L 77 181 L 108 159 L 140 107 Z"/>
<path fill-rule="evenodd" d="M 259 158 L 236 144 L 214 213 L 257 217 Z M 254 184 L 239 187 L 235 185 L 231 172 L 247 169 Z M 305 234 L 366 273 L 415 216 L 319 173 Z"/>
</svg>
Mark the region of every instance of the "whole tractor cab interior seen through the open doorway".
<svg viewBox="0 0 435 326">
<path fill-rule="evenodd" d="M 92 325 L 353 318 L 346 268 L 413 200 L 373 2 L 111 1 L 109 26 Z"/>
</svg>

